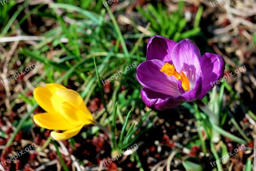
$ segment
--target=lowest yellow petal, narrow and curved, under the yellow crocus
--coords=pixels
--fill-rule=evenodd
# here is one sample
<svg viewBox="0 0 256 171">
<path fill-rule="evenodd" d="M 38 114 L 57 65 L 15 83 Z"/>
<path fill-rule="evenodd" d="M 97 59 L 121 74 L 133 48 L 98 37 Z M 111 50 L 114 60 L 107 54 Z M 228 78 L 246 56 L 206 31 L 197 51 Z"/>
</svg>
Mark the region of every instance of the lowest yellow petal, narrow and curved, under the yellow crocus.
<svg viewBox="0 0 256 171">
<path fill-rule="evenodd" d="M 80 125 L 73 129 L 68 129 L 64 131 L 63 133 L 57 133 L 57 132 L 51 132 L 51 136 L 53 139 L 57 141 L 62 141 L 71 138 L 72 136 L 75 136 L 79 133 L 79 131 L 83 128 L 84 125 Z"/>
</svg>

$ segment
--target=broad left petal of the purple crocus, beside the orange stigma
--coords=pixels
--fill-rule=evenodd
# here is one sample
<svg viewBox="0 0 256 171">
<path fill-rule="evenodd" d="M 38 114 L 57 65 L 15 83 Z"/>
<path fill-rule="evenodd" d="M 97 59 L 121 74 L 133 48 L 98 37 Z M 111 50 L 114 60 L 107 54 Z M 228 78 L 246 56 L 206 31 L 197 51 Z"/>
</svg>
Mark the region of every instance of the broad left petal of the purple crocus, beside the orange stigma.
<svg viewBox="0 0 256 171">
<path fill-rule="evenodd" d="M 174 76 L 168 77 L 160 69 L 165 62 L 157 59 L 142 62 L 137 67 L 137 80 L 145 88 L 178 97 L 177 80 Z"/>
</svg>

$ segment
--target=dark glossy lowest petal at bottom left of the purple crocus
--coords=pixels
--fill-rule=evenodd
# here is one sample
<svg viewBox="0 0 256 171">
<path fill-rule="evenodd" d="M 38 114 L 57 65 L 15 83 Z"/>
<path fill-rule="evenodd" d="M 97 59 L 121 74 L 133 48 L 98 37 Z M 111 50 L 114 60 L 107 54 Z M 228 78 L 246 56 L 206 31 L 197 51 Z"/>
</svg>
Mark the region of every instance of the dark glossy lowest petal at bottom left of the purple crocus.
<svg viewBox="0 0 256 171">
<path fill-rule="evenodd" d="M 167 110 L 186 102 L 184 99 L 177 99 L 147 88 L 141 89 L 140 95 L 146 106 L 153 110 Z"/>
</svg>

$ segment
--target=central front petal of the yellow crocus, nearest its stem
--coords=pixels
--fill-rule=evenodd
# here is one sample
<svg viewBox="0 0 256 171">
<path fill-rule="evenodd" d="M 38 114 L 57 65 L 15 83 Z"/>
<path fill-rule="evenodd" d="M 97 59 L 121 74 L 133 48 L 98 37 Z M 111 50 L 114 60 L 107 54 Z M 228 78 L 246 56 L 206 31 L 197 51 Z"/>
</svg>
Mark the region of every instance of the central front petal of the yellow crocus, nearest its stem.
<svg viewBox="0 0 256 171">
<path fill-rule="evenodd" d="M 63 102 L 60 105 L 60 113 L 65 119 L 76 122 L 78 124 L 88 125 L 93 122 L 91 113 L 84 113 L 71 102 Z"/>
</svg>

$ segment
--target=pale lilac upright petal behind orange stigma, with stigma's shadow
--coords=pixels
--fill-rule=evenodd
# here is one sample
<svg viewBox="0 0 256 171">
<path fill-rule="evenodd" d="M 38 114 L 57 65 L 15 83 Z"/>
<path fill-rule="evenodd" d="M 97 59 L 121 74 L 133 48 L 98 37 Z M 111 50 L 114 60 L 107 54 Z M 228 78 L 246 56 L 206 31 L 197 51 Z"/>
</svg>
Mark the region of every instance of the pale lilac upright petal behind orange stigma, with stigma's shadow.
<svg viewBox="0 0 256 171">
<path fill-rule="evenodd" d="M 202 76 L 201 55 L 198 47 L 189 39 L 180 41 L 172 51 L 172 62 L 177 72 L 183 71 L 188 77 L 190 87 L 194 88 L 196 75 Z"/>
</svg>

